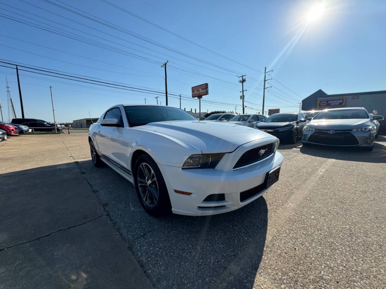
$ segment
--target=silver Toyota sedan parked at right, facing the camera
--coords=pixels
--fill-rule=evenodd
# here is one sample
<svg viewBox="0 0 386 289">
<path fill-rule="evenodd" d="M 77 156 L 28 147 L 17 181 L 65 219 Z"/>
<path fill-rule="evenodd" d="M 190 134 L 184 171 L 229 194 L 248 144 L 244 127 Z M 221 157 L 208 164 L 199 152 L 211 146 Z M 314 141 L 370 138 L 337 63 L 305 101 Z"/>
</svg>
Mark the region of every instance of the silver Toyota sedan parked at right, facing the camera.
<svg viewBox="0 0 386 289">
<path fill-rule="evenodd" d="M 376 135 L 372 122 L 382 119 L 371 118 L 364 108 L 325 109 L 318 113 L 303 128 L 303 144 L 323 144 L 329 146 L 358 146 L 371 151 Z"/>
</svg>

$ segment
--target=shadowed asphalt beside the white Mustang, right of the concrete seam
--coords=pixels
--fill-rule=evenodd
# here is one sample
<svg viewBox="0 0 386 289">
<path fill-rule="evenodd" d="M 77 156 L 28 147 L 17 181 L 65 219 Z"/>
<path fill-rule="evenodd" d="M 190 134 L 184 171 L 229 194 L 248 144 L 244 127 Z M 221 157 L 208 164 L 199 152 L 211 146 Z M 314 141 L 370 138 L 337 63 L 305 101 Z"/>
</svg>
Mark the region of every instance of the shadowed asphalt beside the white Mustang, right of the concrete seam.
<svg viewBox="0 0 386 289">
<path fill-rule="evenodd" d="M 252 288 L 267 233 L 264 197 L 220 215 L 154 218 L 129 181 L 91 161 L 80 165 L 155 287 Z"/>
</svg>

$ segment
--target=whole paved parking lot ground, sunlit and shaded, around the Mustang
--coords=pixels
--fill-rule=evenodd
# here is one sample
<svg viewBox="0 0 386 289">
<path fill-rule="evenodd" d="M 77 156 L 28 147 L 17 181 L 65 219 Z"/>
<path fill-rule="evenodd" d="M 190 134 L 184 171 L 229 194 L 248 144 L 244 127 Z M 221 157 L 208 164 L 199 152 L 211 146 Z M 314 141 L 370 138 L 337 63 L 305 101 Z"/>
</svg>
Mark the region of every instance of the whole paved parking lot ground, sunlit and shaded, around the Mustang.
<svg viewBox="0 0 386 289">
<path fill-rule="evenodd" d="M 0 143 L 0 288 L 384 288 L 386 138 L 280 144 L 280 180 L 210 217 L 154 218 L 87 134 Z"/>
</svg>

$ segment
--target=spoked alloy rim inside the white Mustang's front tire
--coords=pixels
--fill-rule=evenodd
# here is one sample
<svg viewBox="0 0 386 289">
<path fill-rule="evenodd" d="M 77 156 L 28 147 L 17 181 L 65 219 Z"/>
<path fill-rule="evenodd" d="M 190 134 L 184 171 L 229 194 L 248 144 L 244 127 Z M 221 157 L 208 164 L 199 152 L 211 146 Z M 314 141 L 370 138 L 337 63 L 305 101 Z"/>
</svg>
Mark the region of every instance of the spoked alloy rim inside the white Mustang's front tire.
<svg viewBox="0 0 386 289">
<path fill-rule="evenodd" d="M 137 171 L 137 183 L 142 200 L 149 207 L 154 207 L 158 201 L 158 183 L 151 166 L 141 163 Z"/>
</svg>

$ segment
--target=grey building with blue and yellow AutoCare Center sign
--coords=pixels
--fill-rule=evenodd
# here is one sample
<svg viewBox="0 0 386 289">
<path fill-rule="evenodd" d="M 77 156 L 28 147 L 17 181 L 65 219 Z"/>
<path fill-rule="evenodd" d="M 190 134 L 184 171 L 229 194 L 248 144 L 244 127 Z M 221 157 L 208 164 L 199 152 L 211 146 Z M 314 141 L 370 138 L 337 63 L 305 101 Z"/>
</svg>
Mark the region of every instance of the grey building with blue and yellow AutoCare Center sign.
<svg viewBox="0 0 386 289">
<path fill-rule="evenodd" d="M 369 113 L 375 108 L 378 114 L 386 116 L 386 90 L 327 94 L 319 89 L 301 101 L 301 109 L 304 111 L 342 107 L 363 107 Z"/>
</svg>

